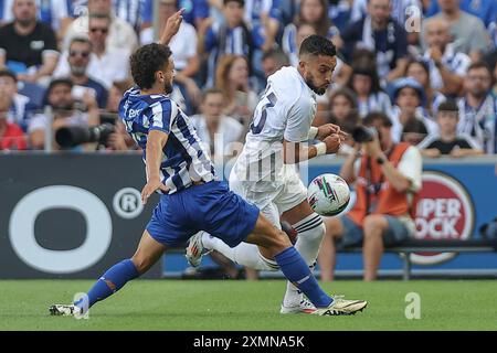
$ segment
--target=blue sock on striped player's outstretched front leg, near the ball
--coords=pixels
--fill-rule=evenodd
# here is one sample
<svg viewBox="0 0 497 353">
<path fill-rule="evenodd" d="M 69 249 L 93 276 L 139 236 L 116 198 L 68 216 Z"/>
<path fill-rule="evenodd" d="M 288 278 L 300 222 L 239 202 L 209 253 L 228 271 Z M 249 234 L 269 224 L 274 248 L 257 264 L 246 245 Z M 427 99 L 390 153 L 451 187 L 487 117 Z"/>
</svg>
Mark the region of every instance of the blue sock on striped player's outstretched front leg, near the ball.
<svg viewBox="0 0 497 353">
<path fill-rule="evenodd" d="M 300 254 L 290 246 L 275 257 L 285 277 L 300 289 L 317 308 L 326 308 L 334 300 L 319 287 Z"/>
</svg>

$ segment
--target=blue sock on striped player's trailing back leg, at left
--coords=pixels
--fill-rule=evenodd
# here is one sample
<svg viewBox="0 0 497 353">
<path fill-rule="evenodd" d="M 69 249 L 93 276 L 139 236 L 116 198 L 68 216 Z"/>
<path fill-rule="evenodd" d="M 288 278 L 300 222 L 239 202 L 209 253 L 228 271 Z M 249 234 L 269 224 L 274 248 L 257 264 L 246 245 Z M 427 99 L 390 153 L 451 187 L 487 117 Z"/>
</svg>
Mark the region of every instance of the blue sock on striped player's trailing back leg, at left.
<svg viewBox="0 0 497 353">
<path fill-rule="evenodd" d="M 88 308 L 91 308 L 95 302 L 104 300 L 108 296 L 114 295 L 120 288 L 123 288 L 126 282 L 135 279 L 140 274 L 135 267 L 135 264 L 130 259 L 123 260 L 113 267 L 110 267 L 104 276 L 102 276 L 92 289 L 89 289 L 88 296 Z M 77 307 L 83 307 L 83 298 L 77 300 L 74 304 Z"/>
</svg>

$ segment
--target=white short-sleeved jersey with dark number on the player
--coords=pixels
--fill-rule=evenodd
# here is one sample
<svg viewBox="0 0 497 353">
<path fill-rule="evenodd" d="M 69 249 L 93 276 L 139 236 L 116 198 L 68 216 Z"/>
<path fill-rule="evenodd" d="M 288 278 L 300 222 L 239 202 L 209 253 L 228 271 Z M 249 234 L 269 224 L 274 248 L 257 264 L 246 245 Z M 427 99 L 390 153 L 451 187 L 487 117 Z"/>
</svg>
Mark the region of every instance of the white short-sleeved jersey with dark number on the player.
<svg viewBox="0 0 497 353">
<path fill-rule="evenodd" d="M 283 184 L 283 140 L 308 140 L 316 106 L 316 94 L 297 68 L 287 66 L 271 75 L 231 178 L 250 182 L 253 191 Z"/>
</svg>

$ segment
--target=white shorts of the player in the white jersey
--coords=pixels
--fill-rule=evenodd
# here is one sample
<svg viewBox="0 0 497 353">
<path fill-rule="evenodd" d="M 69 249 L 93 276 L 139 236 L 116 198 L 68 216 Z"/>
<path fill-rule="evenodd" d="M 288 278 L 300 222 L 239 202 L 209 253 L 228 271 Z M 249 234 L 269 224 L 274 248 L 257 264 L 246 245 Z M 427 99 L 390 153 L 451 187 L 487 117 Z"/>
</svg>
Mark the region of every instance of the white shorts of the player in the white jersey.
<svg viewBox="0 0 497 353">
<path fill-rule="evenodd" d="M 307 200 L 307 189 L 294 168 L 286 168 L 283 182 L 240 181 L 230 174 L 230 190 L 252 202 L 276 227 L 279 216 Z"/>
</svg>

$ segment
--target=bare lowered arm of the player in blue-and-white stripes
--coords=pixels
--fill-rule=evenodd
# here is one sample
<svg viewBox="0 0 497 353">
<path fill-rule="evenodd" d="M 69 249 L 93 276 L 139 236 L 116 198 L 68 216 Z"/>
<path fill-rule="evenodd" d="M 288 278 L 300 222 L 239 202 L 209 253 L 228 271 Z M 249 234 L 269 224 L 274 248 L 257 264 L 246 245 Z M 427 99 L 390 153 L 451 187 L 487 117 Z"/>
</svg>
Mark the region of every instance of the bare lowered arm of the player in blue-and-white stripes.
<svg viewBox="0 0 497 353">
<path fill-rule="evenodd" d="M 148 197 L 156 191 L 168 192 L 169 189 L 160 180 L 160 163 L 162 161 L 162 149 L 168 141 L 168 135 L 163 131 L 151 130 L 147 139 L 147 175 L 148 181 L 141 191 L 141 202 L 145 205 Z"/>
</svg>

